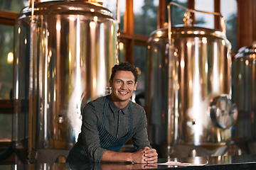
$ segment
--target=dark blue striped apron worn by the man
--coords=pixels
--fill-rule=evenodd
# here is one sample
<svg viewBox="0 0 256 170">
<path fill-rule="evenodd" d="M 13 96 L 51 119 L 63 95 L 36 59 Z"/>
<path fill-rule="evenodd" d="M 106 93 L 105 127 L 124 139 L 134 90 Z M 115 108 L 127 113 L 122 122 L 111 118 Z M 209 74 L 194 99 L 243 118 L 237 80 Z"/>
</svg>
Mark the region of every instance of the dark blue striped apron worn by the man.
<svg viewBox="0 0 256 170">
<path fill-rule="evenodd" d="M 128 141 L 127 138 L 132 133 L 132 128 L 133 128 L 132 127 L 132 124 L 133 124 L 132 123 L 132 108 L 130 106 L 130 103 L 128 103 L 129 125 L 130 125 L 129 132 L 124 137 L 121 137 L 118 139 L 117 137 L 114 137 L 113 135 L 111 135 L 110 132 L 107 132 L 107 130 L 105 130 L 105 128 L 104 128 L 105 120 L 107 117 L 108 105 L 109 105 L 109 101 L 106 98 L 105 105 L 104 105 L 102 124 L 101 124 L 100 130 L 99 130 L 100 147 L 107 149 L 107 150 L 119 152 L 119 150 L 124 145 L 124 143 Z M 81 162 L 81 163 L 90 162 L 90 160 L 87 157 L 85 145 L 82 142 L 82 136 L 78 137 L 78 142 L 76 142 L 75 146 L 70 150 L 66 162 L 78 162 L 78 163 L 79 162 Z"/>
</svg>

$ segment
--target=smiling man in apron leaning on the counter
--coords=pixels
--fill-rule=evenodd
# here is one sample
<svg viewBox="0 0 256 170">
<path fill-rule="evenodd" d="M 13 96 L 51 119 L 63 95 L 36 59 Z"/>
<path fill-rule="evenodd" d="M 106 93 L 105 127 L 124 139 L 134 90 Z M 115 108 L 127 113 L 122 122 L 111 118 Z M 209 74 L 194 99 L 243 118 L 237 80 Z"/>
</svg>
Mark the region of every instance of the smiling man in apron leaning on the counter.
<svg viewBox="0 0 256 170">
<path fill-rule="evenodd" d="M 78 142 L 66 162 L 157 162 L 156 149 L 151 149 L 148 140 L 144 108 L 130 101 L 137 79 L 132 64 L 122 62 L 112 67 L 112 94 L 87 103 Z M 131 138 L 137 151 L 119 152 Z"/>
</svg>

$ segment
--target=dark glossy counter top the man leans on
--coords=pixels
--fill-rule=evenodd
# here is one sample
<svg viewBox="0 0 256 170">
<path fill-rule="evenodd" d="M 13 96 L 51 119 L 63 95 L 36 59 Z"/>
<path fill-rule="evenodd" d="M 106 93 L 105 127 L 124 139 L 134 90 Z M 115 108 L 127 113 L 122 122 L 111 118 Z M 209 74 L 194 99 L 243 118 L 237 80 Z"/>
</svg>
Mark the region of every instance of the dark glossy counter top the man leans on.
<svg viewBox="0 0 256 170">
<path fill-rule="evenodd" d="M 205 164 L 201 166 L 161 165 L 165 162 L 181 162 L 190 164 Z M 159 159 L 159 164 L 129 164 L 129 163 L 90 163 L 90 164 L 13 164 L 0 165 L 1 170 L 82 170 L 82 169 L 256 169 L 256 155 L 220 156 L 220 157 L 188 157 Z"/>
</svg>

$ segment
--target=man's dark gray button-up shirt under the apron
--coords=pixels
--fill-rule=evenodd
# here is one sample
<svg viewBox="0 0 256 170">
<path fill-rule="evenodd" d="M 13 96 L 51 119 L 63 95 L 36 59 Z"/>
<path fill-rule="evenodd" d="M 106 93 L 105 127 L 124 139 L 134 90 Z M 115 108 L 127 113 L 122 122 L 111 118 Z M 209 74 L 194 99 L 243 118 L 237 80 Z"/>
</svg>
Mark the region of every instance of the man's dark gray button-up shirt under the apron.
<svg viewBox="0 0 256 170">
<path fill-rule="evenodd" d="M 110 103 L 107 108 L 104 128 L 117 138 L 124 137 L 129 132 L 128 105 L 123 109 L 117 108 L 112 101 L 111 95 L 100 97 L 95 101 L 87 103 L 82 111 L 82 128 L 79 137 L 82 137 L 87 156 L 92 162 L 100 162 L 102 154 L 106 151 L 106 149 L 100 147 L 98 131 L 102 123 L 106 98 L 109 99 Z M 143 149 L 145 146 L 151 148 L 146 130 L 146 113 L 144 108 L 132 101 L 129 101 L 129 103 L 132 108 L 133 130 L 131 137 L 134 148 L 136 150 Z"/>
</svg>

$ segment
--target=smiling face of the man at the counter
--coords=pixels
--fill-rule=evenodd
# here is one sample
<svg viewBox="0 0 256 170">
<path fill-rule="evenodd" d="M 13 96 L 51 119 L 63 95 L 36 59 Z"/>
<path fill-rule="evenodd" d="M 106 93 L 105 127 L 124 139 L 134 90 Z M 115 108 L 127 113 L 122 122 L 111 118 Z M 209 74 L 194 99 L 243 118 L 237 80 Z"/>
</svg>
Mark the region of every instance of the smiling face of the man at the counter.
<svg viewBox="0 0 256 170">
<path fill-rule="evenodd" d="M 137 83 L 134 81 L 134 74 L 129 71 L 117 71 L 113 81 L 110 79 L 113 101 L 129 101 L 132 93 L 136 90 Z"/>
</svg>

